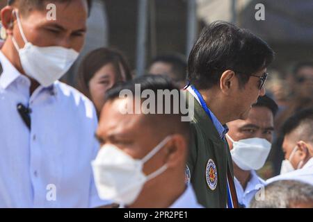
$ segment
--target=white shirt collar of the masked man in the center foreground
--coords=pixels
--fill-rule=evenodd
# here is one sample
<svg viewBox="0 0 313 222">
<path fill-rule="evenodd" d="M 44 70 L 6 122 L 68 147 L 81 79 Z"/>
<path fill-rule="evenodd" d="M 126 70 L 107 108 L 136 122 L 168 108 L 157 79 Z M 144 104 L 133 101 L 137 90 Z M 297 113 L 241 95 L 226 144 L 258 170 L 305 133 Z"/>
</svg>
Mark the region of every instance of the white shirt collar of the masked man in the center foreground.
<svg viewBox="0 0 313 222">
<path fill-rule="evenodd" d="M 182 196 L 179 196 L 175 203 L 173 203 L 169 208 L 203 208 L 203 207 L 198 203 L 192 185 L 188 185 Z"/>
</svg>

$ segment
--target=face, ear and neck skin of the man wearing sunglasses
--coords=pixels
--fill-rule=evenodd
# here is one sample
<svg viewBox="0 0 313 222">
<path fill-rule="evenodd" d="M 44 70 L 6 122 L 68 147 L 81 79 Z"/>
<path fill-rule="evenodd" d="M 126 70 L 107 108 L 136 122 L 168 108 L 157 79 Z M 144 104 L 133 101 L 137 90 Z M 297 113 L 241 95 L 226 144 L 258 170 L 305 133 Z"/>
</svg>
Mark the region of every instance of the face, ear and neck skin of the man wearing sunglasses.
<svg viewBox="0 0 313 222">
<path fill-rule="evenodd" d="M 255 76 L 263 76 L 263 69 Z M 220 84 L 210 89 L 200 90 L 207 106 L 220 123 L 225 124 L 235 119 L 246 119 L 252 105 L 259 96 L 264 96 L 265 88 L 259 89 L 260 79 L 251 76 L 242 88 L 234 71 L 224 71 Z"/>
</svg>

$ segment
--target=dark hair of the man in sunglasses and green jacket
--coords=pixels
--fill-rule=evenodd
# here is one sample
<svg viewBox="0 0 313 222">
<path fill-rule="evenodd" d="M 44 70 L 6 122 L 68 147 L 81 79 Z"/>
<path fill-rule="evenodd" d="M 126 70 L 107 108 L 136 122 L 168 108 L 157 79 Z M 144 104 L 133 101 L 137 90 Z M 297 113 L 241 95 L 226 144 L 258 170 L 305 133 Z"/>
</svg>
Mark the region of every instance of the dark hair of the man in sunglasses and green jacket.
<svg viewBox="0 0 313 222">
<path fill-rule="evenodd" d="M 267 67 L 273 58 L 273 50 L 259 37 L 233 24 L 214 22 L 203 29 L 191 50 L 188 80 L 198 89 L 209 89 L 230 69 L 244 86 L 250 75 Z"/>
</svg>

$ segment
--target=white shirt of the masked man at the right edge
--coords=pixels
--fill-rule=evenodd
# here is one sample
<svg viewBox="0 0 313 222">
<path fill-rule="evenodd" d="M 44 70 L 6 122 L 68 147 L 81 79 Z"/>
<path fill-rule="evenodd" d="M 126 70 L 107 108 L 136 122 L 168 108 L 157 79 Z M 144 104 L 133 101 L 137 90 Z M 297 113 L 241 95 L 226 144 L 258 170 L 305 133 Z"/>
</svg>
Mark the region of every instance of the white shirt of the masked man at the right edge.
<svg viewBox="0 0 313 222">
<path fill-rule="evenodd" d="M 313 185 L 313 157 L 301 169 L 284 173 L 266 180 L 266 183 L 271 183 L 278 180 L 298 180 Z"/>
</svg>

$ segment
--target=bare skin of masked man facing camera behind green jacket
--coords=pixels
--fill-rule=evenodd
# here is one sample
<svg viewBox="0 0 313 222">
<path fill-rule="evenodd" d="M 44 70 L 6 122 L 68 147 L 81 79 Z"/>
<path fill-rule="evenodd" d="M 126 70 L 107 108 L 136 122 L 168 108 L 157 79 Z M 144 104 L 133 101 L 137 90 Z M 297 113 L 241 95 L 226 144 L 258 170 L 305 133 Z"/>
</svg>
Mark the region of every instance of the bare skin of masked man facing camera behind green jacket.
<svg viewBox="0 0 313 222">
<path fill-rule="evenodd" d="M 248 112 L 248 118 L 246 120 L 237 119 L 227 123 L 227 126 L 230 129 L 228 135 L 234 141 L 253 137 L 266 139 L 268 142 L 272 142 L 273 140 L 273 112 L 266 107 L 253 107 Z M 232 141 L 227 138 L 227 142 L 232 150 Z M 250 171 L 240 169 L 234 163 L 234 176 L 241 182 L 243 189 L 245 189 L 250 180 L 251 173 Z"/>
</svg>

